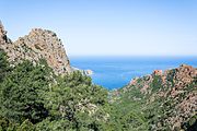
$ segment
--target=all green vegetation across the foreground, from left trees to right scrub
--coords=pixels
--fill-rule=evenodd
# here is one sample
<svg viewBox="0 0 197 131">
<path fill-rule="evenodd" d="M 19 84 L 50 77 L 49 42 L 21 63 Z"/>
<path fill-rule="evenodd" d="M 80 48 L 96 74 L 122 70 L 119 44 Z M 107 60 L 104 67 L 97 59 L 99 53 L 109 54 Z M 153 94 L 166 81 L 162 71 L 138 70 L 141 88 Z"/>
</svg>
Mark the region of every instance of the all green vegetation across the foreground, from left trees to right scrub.
<svg viewBox="0 0 197 131">
<path fill-rule="evenodd" d="M 195 85 L 196 81 L 188 88 Z M 80 72 L 55 75 L 45 60 L 10 66 L 0 50 L 0 131 L 169 131 L 167 126 L 155 124 L 164 123 L 173 99 L 158 98 L 147 105 L 161 86 L 160 78 L 150 86 L 149 95 L 136 86 L 108 93 Z M 195 130 L 196 117 L 183 129 Z"/>
</svg>

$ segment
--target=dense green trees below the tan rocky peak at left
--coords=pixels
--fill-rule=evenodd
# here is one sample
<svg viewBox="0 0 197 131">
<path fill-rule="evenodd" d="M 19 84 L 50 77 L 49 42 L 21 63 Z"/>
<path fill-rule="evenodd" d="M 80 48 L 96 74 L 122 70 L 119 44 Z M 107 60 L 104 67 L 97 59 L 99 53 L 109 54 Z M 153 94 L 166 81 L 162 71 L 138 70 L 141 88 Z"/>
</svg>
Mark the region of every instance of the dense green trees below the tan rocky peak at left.
<svg viewBox="0 0 197 131">
<path fill-rule="evenodd" d="M 44 60 L 11 68 L 2 50 L 0 72 L 0 130 L 102 130 L 108 120 L 107 91 L 80 72 L 56 76 Z"/>
</svg>

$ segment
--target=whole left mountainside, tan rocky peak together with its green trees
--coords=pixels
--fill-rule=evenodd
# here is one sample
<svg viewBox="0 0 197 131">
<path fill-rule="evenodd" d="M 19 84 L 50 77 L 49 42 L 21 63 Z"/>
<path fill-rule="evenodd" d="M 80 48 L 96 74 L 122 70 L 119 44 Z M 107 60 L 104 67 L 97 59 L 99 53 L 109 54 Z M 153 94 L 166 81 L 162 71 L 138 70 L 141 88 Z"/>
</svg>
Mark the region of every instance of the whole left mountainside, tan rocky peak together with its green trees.
<svg viewBox="0 0 197 131">
<path fill-rule="evenodd" d="M 55 33 L 35 28 L 12 43 L 0 24 L 0 131 L 105 129 L 107 90 L 70 67 Z"/>
</svg>

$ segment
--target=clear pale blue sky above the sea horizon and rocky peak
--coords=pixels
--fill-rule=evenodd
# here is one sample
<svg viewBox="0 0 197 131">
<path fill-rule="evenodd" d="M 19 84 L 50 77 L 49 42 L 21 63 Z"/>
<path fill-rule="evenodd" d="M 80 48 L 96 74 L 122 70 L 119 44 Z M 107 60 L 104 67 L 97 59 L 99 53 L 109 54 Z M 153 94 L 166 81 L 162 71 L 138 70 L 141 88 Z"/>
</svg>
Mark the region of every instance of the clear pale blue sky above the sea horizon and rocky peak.
<svg viewBox="0 0 197 131">
<path fill-rule="evenodd" d="M 197 56 L 197 0 L 0 0 L 15 40 L 51 29 L 69 56 Z"/>
</svg>

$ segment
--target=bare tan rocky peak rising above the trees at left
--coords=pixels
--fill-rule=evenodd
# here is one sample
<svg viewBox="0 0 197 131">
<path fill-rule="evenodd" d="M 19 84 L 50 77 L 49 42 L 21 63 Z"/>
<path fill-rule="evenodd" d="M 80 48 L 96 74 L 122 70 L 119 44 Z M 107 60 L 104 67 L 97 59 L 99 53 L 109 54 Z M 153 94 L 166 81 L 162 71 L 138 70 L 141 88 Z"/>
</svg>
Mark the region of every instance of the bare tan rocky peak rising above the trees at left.
<svg viewBox="0 0 197 131">
<path fill-rule="evenodd" d="M 63 45 L 51 31 L 34 28 L 28 35 L 12 43 L 0 24 L 0 48 L 7 52 L 11 63 L 24 59 L 35 63 L 45 59 L 56 74 L 72 72 Z"/>
</svg>

